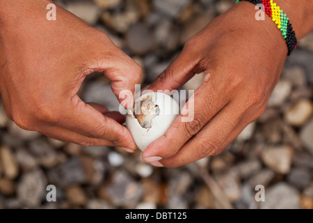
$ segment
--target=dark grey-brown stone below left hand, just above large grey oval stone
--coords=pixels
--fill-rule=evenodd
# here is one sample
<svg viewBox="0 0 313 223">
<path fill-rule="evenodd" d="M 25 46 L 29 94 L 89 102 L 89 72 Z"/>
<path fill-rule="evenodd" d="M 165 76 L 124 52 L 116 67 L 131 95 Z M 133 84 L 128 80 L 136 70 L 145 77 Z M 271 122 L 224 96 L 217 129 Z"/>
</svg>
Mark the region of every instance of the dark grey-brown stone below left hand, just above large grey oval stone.
<svg viewBox="0 0 313 223">
<path fill-rule="evenodd" d="M 43 138 L 30 141 L 29 151 L 42 167 L 51 168 L 58 163 L 56 150 Z"/>
</svg>

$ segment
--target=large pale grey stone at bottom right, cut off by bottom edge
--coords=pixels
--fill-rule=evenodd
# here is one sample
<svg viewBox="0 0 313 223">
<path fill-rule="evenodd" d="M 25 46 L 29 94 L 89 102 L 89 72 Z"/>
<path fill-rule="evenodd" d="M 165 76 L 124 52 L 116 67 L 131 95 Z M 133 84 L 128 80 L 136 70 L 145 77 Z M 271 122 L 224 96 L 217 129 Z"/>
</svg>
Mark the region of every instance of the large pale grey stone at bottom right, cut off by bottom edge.
<svg viewBox="0 0 313 223">
<path fill-rule="evenodd" d="M 277 183 L 265 190 L 265 201 L 260 202 L 262 209 L 298 209 L 299 192 L 287 183 Z"/>
</svg>

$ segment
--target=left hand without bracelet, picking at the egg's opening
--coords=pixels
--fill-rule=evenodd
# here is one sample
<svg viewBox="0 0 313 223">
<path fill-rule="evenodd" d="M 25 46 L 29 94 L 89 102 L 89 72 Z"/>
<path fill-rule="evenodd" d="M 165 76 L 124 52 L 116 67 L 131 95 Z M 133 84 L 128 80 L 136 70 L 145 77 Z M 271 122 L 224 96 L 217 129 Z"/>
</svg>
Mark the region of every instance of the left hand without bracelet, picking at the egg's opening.
<svg viewBox="0 0 313 223">
<path fill-rule="evenodd" d="M 48 21 L 48 3 L 1 1 L 0 93 L 7 116 L 61 141 L 134 151 L 129 130 L 104 116 L 106 107 L 83 102 L 77 91 L 86 75 L 98 71 L 112 80 L 115 95 L 134 92 L 140 66 L 63 8 L 56 8 L 56 21 Z"/>
</svg>

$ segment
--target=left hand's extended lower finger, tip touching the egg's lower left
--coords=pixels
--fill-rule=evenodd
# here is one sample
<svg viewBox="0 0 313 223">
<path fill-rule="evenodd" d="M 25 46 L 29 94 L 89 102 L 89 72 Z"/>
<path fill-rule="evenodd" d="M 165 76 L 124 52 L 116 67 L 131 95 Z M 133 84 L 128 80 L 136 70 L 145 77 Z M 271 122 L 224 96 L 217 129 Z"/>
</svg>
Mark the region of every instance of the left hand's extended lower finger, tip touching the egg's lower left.
<svg viewBox="0 0 313 223">
<path fill-rule="evenodd" d="M 106 139 L 120 147 L 136 150 L 127 128 L 84 103 L 77 95 L 63 107 L 58 124 L 89 138 Z"/>
</svg>

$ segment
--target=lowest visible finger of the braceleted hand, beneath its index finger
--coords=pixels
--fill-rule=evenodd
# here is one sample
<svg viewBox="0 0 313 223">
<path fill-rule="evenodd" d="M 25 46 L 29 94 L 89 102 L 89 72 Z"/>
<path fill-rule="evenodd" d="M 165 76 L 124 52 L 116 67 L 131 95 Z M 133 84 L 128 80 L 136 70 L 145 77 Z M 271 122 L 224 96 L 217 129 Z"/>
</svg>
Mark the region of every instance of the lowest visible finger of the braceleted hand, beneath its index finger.
<svg viewBox="0 0 313 223">
<path fill-rule="evenodd" d="M 241 99 L 230 102 L 193 139 L 182 146 L 176 155 L 161 160 L 161 163 L 165 167 L 179 167 L 222 152 L 264 111 L 262 105 L 255 104 L 242 109 L 240 102 Z"/>
</svg>

